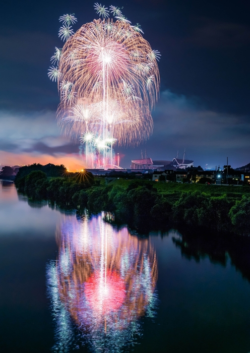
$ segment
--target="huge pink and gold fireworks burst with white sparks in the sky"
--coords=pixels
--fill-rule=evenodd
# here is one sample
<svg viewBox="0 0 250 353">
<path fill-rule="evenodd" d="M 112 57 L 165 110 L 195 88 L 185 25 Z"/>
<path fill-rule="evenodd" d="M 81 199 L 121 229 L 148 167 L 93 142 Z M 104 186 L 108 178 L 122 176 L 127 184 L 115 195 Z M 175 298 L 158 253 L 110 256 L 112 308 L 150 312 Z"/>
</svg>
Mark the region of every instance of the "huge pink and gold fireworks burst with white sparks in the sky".
<svg viewBox="0 0 250 353">
<path fill-rule="evenodd" d="M 81 139 L 89 167 L 113 167 L 113 145 L 138 145 L 152 134 L 151 108 L 159 92 L 157 60 L 137 24 L 119 8 L 95 4 L 103 19 L 84 24 L 75 34 L 74 15 L 64 15 L 48 76 L 58 81 L 57 117 L 65 134 Z M 113 16 L 114 20 L 109 18 Z"/>
</svg>

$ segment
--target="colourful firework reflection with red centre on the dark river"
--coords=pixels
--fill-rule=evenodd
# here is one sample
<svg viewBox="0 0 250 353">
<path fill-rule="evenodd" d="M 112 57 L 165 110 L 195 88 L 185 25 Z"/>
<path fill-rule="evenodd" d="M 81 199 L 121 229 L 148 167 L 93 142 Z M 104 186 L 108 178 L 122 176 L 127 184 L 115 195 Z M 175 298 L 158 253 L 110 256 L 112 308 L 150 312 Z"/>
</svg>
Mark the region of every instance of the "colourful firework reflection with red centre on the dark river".
<svg viewBox="0 0 250 353">
<path fill-rule="evenodd" d="M 53 351 L 88 342 L 92 351 L 119 352 L 141 334 L 138 319 L 154 316 L 157 260 L 150 240 L 115 230 L 104 217 L 66 218 L 57 229 L 58 259 L 47 269 Z"/>
</svg>

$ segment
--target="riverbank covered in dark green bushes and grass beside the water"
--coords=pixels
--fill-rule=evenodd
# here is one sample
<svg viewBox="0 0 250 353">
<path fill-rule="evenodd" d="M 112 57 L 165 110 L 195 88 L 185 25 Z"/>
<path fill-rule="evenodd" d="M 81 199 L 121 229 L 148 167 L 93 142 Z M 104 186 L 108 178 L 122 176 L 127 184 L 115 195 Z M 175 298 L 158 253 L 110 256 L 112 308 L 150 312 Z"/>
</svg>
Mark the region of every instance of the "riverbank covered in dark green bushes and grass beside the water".
<svg viewBox="0 0 250 353">
<path fill-rule="evenodd" d="M 27 168 L 27 167 L 26 167 Z M 28 170 L 26 169 L 26 172 Z M 33 199 L 47 199 L 79 213 L 110 211 L 118 223 L 163 229 L 169 225 L 196 226 L 208 231 L 250 235 L 250 188 L 198 184 L 156 183 L 116 179 L 105 183 L 84 171 L 48 177 L 41 170 L 24 175 L 15 184 Z"/>
</svg>

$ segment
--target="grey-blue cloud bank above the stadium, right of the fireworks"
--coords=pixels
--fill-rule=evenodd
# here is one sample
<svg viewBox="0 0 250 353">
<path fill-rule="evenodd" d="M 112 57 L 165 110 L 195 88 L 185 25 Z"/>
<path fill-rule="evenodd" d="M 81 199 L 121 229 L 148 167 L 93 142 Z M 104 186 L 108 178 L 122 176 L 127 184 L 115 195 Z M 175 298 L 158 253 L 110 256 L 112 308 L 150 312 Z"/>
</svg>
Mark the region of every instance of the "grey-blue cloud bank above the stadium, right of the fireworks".
<svg viewBox="0 0 250 353">
<path fill-rule="evenodd" d="M 206 108 L 196 97 L 169 90 L 161 93 L 152 115 L 154 132 L 147 143 L 133 151 L 122 150 L 127 166 L 130 159 L 140 158 L 141 151 L 145 154 L 145 149 L 151 158 L 165 160 L 175 157 L 177 151 L 181 155 L 185 149 L 196 165 L 208 163 L 209 167 L 222 165 L 226 157 L 234 167 L 249 162 L 248 115 L 220 113 Z"/>
</svg>

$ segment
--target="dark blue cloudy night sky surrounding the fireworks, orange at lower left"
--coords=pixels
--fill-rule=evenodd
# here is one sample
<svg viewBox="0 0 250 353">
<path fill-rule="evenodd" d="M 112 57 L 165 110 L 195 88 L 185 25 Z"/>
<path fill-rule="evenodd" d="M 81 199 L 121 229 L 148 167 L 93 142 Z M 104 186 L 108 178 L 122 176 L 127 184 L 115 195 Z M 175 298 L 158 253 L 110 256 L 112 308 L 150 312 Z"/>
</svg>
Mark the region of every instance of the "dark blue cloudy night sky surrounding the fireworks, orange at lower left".
<svg viewBox="0 0 250 353">
<path fill-rule="evenodd" d="M 249 1 L 133 0 L 101 2 L 123 7 L 161 53 L 160 98 L 154 132 L 137 148 L 114 147 L 130 167 L 141 150 L 171 160 L 186 150 L 195 165 L 214 168 L 250 162 Z M 94 1 L 9 1 L 1 5 L 0 163 L 82 163 L 79 146 L 61 136 L 55 120 L 57 85 L 47 77 L 59 16 L 78 23 L 98 18 Z"/>
</svg>

